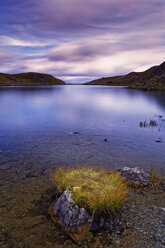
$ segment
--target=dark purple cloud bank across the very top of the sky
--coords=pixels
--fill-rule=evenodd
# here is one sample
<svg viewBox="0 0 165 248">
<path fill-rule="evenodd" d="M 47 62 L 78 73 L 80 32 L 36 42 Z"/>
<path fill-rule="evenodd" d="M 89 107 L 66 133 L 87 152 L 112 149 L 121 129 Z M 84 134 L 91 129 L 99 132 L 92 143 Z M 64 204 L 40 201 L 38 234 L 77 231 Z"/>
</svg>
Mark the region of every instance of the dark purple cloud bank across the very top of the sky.
<svg viewBox="0 0 165 248">
<path fill-rule="evenodd" d="M 164 0 L 17 0 L 2 3 L 0 20 L 11 31 L 73 37 L 103 30 L 124 32 L 131 26 L 143 29 L 144 24 L 151 27 L 156 19 L 164 20 L 164 7 Z"/>
</svg>

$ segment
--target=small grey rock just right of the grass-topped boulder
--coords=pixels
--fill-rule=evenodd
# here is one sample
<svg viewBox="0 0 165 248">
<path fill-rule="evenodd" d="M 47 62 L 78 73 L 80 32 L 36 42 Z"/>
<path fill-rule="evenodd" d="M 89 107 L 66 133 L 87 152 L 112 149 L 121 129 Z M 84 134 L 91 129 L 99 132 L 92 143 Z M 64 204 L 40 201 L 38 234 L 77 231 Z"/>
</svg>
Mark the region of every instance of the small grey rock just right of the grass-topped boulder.
<svg viewBox="0 0 165 248">
<path fill-rule="evenodd" d="M 123 177 L 125 177 L 126 180 L 130 181 L 131 183 L 140 184 L 143 187 L 149 184 L 149 173 L 145 172 L 140 167 L 123 167 L 119 168 L 118 171 Z"/>
</svg>

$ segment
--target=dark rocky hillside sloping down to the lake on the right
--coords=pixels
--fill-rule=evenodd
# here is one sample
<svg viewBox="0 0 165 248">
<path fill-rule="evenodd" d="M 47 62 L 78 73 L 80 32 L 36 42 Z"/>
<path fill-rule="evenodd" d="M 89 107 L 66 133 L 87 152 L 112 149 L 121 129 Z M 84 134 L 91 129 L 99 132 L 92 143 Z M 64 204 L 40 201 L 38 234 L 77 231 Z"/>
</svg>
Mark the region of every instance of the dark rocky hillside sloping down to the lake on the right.
<svg viewBox="0 0 165 248">
<path fill-rule="evenodd" d="M 165 90 L 165 62 L 144 72 L 131 72 L 116 77 L 103 77 L 87 85 L 129 86 L 134 89 Z"/>
</svg>

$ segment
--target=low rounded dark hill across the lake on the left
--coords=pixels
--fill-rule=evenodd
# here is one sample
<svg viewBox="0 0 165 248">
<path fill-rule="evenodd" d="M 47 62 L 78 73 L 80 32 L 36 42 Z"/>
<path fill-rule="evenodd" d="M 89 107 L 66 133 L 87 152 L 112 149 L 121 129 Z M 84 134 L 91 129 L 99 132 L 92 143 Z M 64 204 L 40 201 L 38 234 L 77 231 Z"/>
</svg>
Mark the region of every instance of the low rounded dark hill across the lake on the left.
<svg viewBox="0 0 165 248">
<path fill-rule="evenodd" d="M 20 74 L 0 73 L 0 86 L 25 86 L 25 85 L 57 85 L 65 84 L 62 80 L 49 74 L 28 72 Z"/>
</svg>

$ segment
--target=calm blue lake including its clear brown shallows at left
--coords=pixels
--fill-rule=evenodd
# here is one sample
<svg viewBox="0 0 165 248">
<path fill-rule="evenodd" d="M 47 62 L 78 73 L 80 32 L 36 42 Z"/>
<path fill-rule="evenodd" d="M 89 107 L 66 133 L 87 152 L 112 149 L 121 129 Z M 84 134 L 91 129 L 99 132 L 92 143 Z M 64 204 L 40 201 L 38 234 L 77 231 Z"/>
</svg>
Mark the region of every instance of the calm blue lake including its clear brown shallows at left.
<svg viewBox="0 0 165 248">
<path fill-rule="evenodd" d="M 50 217 L 56 199 L 51 175 L 58 166 L 163 171 L 164 151 L 165 92 L 0 87 L 0 247 L 79 247 Z M 96 247 L 98 238 L 112 242 L 99 230 L 84 247 Z"/>
</svg>

